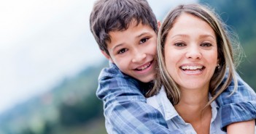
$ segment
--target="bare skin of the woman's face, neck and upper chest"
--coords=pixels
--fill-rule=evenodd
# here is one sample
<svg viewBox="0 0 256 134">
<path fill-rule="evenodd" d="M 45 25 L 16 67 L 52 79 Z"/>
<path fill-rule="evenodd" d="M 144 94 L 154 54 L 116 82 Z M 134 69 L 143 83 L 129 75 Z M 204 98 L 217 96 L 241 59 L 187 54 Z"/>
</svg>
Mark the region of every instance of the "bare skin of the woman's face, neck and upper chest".
<svg viewBox="0 0 256 134">
<path fill-rule="evenodd" d="M 167 71 L 182 93 L 175 109 L 197 133 L 209 133 L 212 110 L 210 106 L 202 109 L 209 101 L 209 83 L 218 64 L 214 30 L 183 13 L 168 32 L 164 47 Z"/>
</svg>

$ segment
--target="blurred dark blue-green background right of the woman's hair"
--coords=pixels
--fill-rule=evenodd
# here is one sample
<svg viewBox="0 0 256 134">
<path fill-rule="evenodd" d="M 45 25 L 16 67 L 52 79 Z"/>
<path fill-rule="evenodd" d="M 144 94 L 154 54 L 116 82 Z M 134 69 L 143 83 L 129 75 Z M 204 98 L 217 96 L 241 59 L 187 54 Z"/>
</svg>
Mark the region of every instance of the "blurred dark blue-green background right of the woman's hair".
<svg viewBox="0 0 256 134">
<path fill-rule="evenodd" d="M 222 20 L 238 34 L 241 46 L 246 57 L 238 67 L 238 73 L 256 91 L 256 71 L 252 70 L 256 66 L 256 1 L 234 1 L 234 0 L 201 0 L 200 3 L 208 4 L 220 14 Z"/>
</svg>

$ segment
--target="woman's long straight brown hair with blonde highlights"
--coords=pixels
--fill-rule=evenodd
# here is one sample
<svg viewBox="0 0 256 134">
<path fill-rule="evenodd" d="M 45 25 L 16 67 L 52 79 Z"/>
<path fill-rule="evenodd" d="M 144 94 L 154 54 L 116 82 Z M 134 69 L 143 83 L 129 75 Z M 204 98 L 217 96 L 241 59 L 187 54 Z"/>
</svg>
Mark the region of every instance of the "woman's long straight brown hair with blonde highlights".
<svg viewBox="0 0 256 134">
<path fill-rule="evenodd" d="M 234 91 L 236 90 L 238 83 L 236 80 L 236 67 L 234 65 L 233 58 L 233 46 L 236 43 L 231 42 L 230 36 L 228 34 L 228 29 L 225 24 L 220 20 L 220 17 L 215 14 L 211 9 L 200 4 L 187 4 L 179 5 L 175 9 L 171 10 L 163 20 L 163 24 L 160 26 L 158 32 L 158 65 L 157 65 L 157 78 L 155 80 L 155 87 L 147 93 L 147 96 L 153 96 L 158 93 L 161 86 L 166 90 L 168 99 L 172 104 L 176 105 L 180 100 L 180 91 L 177 86 L 177 83 L 171 78 L 168 74 L 165 65 L 165 56 L 164 56 L 164 44 L 166 41 L 166 36 L 171 30 L 172 25 L 174 25 L 175 20 L 182 13 L 193 14 L 195 17 L 200 18 L 201 20 L 207 22 L 211 28 L 214 30 L 214 33 L 217 37 L 217 54 L 219 59 L 220 68 L 216 68 L 214 75 L 210 81 L 209 92 L 212 94 L 212 99 L 206 104 L 209 104 L 217 98 L 217 96 L 228 87 L 231 80 L 234 80 Z M 236 44 L 237 45 L 237 44 Z M 227 78 L 225 78 L 225 72 L 227 73 Z M 222 82 L 223 81 L 223 82 Z M 217 92 L 217 88 L 218 89 Z"/>
</svg>

